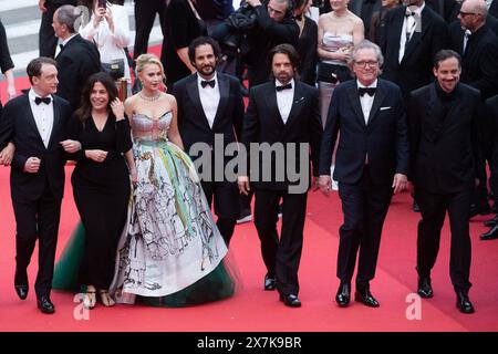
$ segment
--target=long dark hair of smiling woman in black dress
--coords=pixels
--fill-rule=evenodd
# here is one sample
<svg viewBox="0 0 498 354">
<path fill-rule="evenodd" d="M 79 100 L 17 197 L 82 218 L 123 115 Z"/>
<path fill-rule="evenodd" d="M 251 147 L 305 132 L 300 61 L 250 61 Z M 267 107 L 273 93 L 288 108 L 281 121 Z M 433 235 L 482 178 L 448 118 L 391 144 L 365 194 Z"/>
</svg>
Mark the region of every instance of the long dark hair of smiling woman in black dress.
<svg viewBox="0 0 498 354">
<path fill-rule="evenodd" d="M 86 81 L 82 94 L 81 94 L 81 103 L 80 107 L 74 112 L 76 117 L 85 123 L 85 121 L 91 116 L 92 114 L 92 103 L 90 102 L 90 94 L 92 93 L 93 86 L 95 86 L 95 83 L 100 82 L 104 85 L 105 90 L 107 90 L 108 94 L 108 103 L 107 103 L 107 112 L 112 114 L 111 110 L 111 103 L 117 98 L 117 88 L 116 83 L 113 77 L 111 77 L 110 74 L 101 72 L 93 74 L 89 77 Z"/>
</svg>

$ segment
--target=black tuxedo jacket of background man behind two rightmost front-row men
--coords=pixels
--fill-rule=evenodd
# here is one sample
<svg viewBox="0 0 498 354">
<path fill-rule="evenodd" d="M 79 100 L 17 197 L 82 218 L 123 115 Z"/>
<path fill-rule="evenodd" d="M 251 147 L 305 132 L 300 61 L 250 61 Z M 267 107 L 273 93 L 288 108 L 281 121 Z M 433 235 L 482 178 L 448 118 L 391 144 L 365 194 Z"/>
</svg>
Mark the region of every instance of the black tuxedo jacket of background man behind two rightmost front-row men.
<svg viewBox="0 0 498 354">
<path fill-rule="evenodd" d="M 405 6 L 387 12 L 381 33 L 381 48 L 384 53 L 383 79 L 400 85 L 403 94 L 407 96 L 411 91 L 434 80 L 434 55 L 447 48 L 449 40 L 445 21 L 426 6 L 422 11 L 421 32 L 413 33 L 400 62 L 400 40 L 405 13 Z"/>
</svg>

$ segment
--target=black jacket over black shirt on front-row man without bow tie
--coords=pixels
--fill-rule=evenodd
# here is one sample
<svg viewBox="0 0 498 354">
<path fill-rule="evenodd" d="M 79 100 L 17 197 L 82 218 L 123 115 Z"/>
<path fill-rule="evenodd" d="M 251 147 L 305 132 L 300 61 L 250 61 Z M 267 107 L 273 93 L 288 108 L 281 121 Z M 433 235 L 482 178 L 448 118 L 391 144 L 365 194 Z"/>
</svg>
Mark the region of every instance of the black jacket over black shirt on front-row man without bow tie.
<svg viewBox="0 0 498 354">
<path fill-rule="evenodd" d="M 473 188 L 480 158 L 480 94 L 463 83 L 455 90 L 446 117 L 436 83 L 412 92 L 409 97 L 411 180 L 415 187 L 434 194 Z"/>
</svg>

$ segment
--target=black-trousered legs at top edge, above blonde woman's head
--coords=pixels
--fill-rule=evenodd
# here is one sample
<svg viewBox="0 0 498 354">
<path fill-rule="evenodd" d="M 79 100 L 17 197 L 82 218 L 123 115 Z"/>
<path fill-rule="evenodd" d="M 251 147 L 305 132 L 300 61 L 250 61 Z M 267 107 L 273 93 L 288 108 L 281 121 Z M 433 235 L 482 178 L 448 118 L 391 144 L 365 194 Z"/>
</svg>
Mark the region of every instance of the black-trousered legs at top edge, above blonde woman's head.
<svg viewBox="0 0 498 354">
<path fill-rule="evenodd" d="M 160 31 L 166 37 L 166 2 L 165 0 L 135 0 L 135 48 L 133 58 L 147 53 L 148 37 L 156 19 L 159 14 Z"/>
</svg>

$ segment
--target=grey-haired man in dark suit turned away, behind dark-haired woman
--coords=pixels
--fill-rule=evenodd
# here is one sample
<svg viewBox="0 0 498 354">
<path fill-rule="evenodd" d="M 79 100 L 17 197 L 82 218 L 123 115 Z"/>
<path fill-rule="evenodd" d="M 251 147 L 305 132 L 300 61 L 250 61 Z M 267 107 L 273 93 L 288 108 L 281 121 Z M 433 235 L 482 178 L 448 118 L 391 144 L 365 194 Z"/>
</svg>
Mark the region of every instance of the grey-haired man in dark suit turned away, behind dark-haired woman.
<svg viewBox="0 0 498 354">
<path fill-rule="evenodd" d="M 62 50 L 55 58 L 59 69 L 59 95 L 69 101 L 74 111 L 81 101 L 81 90 L 86 80 L 101 71 L 101 55 L 94 43 L 84 40 L 75 25 L 81 10 L 66 4 L 53 14 L 55 35 L 62 40 Z"/>
</svg>

